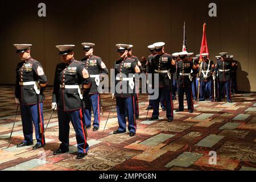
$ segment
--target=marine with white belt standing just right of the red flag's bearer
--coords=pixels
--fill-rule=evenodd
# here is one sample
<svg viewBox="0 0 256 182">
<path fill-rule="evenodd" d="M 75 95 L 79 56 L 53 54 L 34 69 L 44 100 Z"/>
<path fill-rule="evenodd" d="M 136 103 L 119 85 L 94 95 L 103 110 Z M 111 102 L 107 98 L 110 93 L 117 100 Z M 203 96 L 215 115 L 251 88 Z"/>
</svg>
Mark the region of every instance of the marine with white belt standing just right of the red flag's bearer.
<svg viewBox="0 0 256 182">
<path fill-rule="evenodd" d="M 214 75 L 218 74 L 218 102 L 221 102 L 222 92 L 225 88 L 226 96 L 228 102 L 232 102 L 231 92 L 230 92 L 230 80 L 231 80 L 231 69 L 232 63 L 231 61 L 226 59 L 227 52 L 221 52 L 221 60 L 217 61 L 216 68 L 214 71 Z"/>
</svg>

